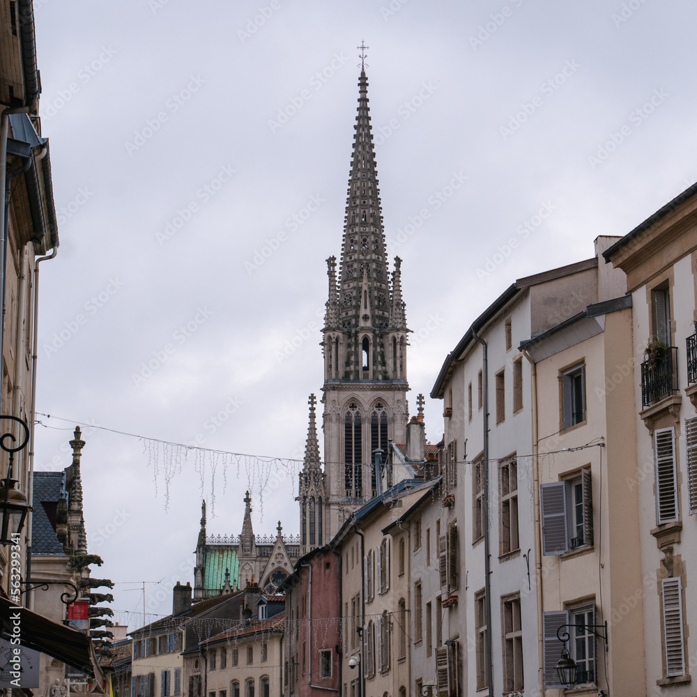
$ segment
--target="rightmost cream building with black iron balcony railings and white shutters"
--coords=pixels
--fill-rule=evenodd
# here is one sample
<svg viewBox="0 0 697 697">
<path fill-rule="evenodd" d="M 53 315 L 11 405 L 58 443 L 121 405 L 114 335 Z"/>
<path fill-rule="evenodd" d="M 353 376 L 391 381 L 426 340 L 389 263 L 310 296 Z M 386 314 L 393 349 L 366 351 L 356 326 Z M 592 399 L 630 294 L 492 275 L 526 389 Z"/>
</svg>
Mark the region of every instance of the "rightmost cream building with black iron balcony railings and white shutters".
<svg viewBox="0 0 697 697">
<path fill-rule="evenodd" d="M 633 305 L 636 469 L 625 486 L 638 492 L 646 689 L 687 697 L 697 654 L 697 185 L 604 256 L 627 274 Z"/>
</svg>

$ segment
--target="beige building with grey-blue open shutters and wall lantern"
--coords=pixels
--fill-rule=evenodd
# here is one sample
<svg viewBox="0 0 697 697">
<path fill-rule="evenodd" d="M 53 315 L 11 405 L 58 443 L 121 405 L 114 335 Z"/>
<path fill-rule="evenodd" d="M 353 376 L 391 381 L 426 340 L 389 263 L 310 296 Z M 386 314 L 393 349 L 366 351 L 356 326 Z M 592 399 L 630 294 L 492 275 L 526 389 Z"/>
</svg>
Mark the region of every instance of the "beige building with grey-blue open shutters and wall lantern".
<svg viewBox="0 0 697 697">
<path fill-rule="evenodd" d="M 600 256 L 597 302 L 521 344 L 533 365 L 533 470 L 539 473 L 542 682 L 551 694 L 645 695 L 631 297 Z M 562 641 L 566 639 L 566 641 Z M 573 683 L 556 666 L 567 650 Z"/>
</svg>

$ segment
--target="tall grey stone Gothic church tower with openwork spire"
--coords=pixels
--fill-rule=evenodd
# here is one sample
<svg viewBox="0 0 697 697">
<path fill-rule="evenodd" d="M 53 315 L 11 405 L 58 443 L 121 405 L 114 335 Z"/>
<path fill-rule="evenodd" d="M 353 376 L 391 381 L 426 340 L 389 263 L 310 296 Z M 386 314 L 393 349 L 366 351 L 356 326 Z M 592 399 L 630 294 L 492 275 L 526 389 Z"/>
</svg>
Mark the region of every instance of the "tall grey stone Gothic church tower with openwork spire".
<svg viewBox="0 0 697 697">
<path fill-rule="evenodd" d="M 406 440 L 409 330 L 401 259 L 395 258 L 390 274 L 385 248 L 365 69 L 358 80 L 357 111 L 341 259 L 327 259 L 321 400 L 325 467 L 322 473 L 319 448 L 310 447 L 313 396 L 298 489 L 304 551 L 331 539 L 354 510 L 380 493 L 376 463 L 386 461 L 388 441 Z"/>
</svg>

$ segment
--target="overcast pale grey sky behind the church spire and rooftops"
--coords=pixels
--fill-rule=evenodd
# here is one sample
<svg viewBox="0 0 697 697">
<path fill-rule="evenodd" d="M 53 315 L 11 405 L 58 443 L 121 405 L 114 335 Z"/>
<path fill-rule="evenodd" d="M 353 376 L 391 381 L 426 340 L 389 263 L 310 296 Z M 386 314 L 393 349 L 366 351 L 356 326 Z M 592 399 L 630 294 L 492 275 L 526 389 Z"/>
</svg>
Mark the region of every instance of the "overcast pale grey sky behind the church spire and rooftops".
<svg viewBox="0 0 697 697">
<path fill-rule="evenodd" d="M 302 457 L 362 38 L 388 253 L 404 259 L 415 332 L 412 412 L 516 277 L 592 256 L 596 236 L 627 233 L 697 179 L 689 0 L 35 0 L 35 11 L 61 238 L 41 273 L 37 406 L 52 418 L 40 417 L 51 428 L 37 429 L 37 469 L 69 464 L 75 422 Z M 441 411 L 427 399 L 434 443 Z M 116 620 L 135 628 L 141 593 L 123 582 L 162 581 L 147 586 L 148 613 L 166 615 L 174 582 L 193 580 L 211 462 L 160 450 L 156 489 L 152 446 L 84 434 L 90 551 L 105 559 L 93 576 L 119 583 Z M 281 518 L 297 533 L 288 469 L 243 461 L 225 487 L 223 464 L 209 533 L 239 533 L 250 486 L 256 532 Z"/>
</svg>

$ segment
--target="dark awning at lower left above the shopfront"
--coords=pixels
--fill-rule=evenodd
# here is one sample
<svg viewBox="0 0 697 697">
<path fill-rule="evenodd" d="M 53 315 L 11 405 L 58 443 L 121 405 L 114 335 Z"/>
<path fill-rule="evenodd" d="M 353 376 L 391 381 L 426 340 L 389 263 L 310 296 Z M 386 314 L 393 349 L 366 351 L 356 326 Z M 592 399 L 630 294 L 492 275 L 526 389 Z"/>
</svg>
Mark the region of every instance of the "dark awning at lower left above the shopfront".
<svg viewBox="0 0 697 697">
<path fill-rule="evenodd" d="M 104 673 L 97 664 L 92 641 L 82 631 L 53 622 L 0 597 L 0 634 L 8 640 L 19 636 L 22 646 L 48 654 L 86 673 L 94 678 L 97 689 L 104 684 Z"/>
</svg>

